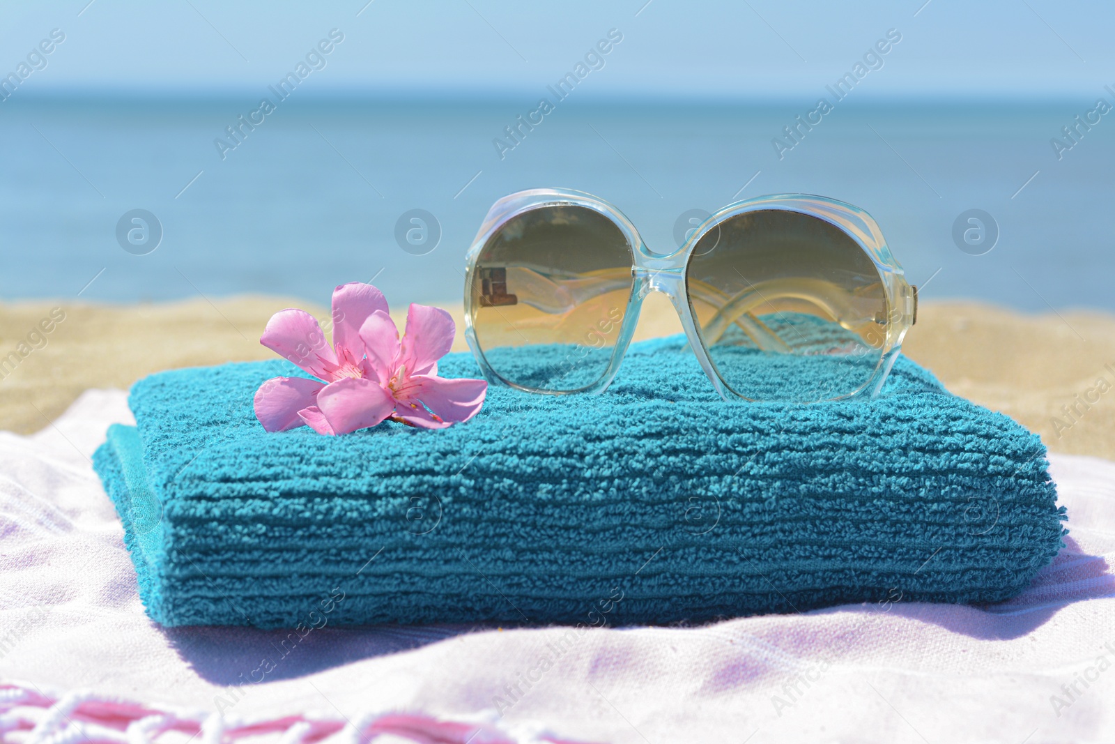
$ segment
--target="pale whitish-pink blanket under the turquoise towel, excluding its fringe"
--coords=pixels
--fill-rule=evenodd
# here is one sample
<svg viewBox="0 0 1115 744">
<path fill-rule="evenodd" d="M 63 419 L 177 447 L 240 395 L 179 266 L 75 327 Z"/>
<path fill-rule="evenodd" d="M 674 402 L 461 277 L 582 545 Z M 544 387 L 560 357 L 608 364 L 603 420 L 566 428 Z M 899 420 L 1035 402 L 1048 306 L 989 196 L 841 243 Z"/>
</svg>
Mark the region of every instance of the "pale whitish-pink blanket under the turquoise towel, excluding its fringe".
<svg viewBox="0 0 1115 744">
<path fill-rule="evenodd" d="M 899 600 L 583 632 L 326 627 L 283 644 L 281 631 L 146 618 L 88 460 L 109 423 L 130 421 L 124 393 L 89 390 L 36 435 L 0 433 L 9 697 L 81 688 L 227 719 L 482 715 L 595 742 L 1115 741 L 1115 463 L 1050 455 L 1068 548 L 1002 605 Z M 0 732 L 29 741 L 11 709 Z M 55 731 L 69 725 L 55 717 Z"/>
</svg>

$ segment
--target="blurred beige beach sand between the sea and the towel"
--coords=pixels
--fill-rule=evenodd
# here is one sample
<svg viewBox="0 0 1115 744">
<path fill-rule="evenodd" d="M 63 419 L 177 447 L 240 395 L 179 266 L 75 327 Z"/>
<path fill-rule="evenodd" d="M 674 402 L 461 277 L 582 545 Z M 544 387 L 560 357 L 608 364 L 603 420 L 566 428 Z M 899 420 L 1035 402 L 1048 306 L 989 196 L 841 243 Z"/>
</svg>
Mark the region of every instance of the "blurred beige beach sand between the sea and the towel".
<svg viewBox="0 0 1115 744">
<path fill-rule="evenodd" d="M 213 303 L 0 305 L 0 428 L 38 431 L 87 388 L 126 389 L 162 369 L 274 358 L 259 337 L 268 318 L 287 307 L 328 315 L 303 300 L 252 296 Z M 51 319 L 52 308 L 60 308 L 55 317 L 65 313 L 60 322 Z M 466 349 L 460 307 L 447 309 L 458 319 L 455 349 Z M 403 320 L 396 318 L 400 328 Z M 637 338 L 678 331 L 669 303 L 649 298 Z M 1040 434 L 1051 451 L 1115 460 L 1115 316 L 923 302 L 903 351 L 952 393 Z M 14 368 L 4 361 L 10 352 Z"/>
</svg>

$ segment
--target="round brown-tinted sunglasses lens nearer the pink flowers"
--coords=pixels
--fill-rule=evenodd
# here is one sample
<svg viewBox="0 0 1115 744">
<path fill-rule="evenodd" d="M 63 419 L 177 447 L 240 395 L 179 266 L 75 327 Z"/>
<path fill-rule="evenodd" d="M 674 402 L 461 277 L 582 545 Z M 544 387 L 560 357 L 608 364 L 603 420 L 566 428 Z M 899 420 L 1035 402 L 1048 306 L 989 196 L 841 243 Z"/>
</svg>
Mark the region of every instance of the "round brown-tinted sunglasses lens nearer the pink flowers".
<svg viewBox="0 0 1115 744">
<path fill-rule="evenodd" d="M 518 214 L 484 245 L 473 271 L 476 341 L 500 377 L 572 392 L 603 377 L 631 297 L 631 248 L 584 206 Z"/>
</svg>

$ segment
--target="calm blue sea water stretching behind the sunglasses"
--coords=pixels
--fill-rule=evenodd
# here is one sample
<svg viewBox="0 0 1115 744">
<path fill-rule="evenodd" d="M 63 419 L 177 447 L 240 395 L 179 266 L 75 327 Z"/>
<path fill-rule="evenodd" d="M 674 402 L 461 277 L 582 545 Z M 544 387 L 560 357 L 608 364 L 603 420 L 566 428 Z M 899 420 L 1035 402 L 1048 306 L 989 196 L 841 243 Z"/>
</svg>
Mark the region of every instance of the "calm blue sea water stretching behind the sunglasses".
<svg viewBox="0 0 1115 744">
<path fill-rule="evenodd" d="M 0 299 L 327 302 L 334 284 L 376 277 L 392 305 L 459 300 L 464 254 L 492 202 L 553 185 L 612 201 L 652 248 L 673 243 L 689 210 L 825 194 L 875 216 L 925 298 L 1115 310 L 1115 123 L 1105 117 L 1061 160 L 1049 143 L 1090 102 L 846 100 L 779 160 L 770 141 L 808 102 L 571 98 L 501 160 L 493 138 L 534 97 L 292 97 L 222 160 L 214 138 L 231 142 L 225 127 L 264 94 L 0 104 Z M 143 255 L 149 243 L 129 252 L 116 236 L 135 209 L 162 225 Z M 395 238 L 411 209 L 440 226 L 423 255 Z M 999 228 L 982 255 L 953 240 L 969 209 Z"/>
</svg>

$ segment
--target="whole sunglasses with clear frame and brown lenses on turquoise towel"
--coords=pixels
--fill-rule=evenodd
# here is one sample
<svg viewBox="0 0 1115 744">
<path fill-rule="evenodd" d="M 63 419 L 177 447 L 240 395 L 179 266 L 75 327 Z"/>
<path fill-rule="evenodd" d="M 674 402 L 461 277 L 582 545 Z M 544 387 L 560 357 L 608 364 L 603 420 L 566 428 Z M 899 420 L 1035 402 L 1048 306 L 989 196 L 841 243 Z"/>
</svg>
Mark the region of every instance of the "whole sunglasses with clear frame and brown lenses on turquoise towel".
<svg viewBox="0 0 1115 744">
<path fill-rule="evenodd" d="M 658 254 L 603 200 L 521 191 L 492 206 L 467 261 L 465 335 L 484 376 L 551 395 L 607 389 L 655 291 L 725 399 L 874 397 L 918 308 L 875 221 L 804 194 L 730 204 Z"/>
</svg>

